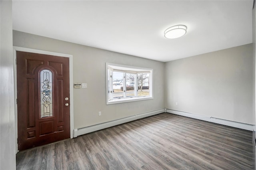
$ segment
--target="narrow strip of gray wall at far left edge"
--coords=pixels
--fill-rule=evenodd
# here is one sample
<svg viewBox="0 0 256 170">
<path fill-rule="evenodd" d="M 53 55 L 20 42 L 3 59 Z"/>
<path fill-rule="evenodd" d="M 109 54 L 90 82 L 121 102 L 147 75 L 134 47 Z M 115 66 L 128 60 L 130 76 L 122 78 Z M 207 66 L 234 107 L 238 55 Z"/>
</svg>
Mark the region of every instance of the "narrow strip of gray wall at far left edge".
<svg viewBox="0 0 256 170">
<path fill-rule="evenodd" d="M 0 169 L 16 169 L 12 1 L 0 1 Z"/>
</svg>

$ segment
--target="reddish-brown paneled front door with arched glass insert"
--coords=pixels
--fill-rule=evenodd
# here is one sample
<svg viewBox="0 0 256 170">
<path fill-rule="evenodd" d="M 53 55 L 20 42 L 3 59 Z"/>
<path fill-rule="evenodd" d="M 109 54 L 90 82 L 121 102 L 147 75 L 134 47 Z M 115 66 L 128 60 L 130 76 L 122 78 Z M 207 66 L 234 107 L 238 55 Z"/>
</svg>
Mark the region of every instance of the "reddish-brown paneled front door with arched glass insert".
<svg viewBox="0 0 256 170">
<path fill-rule="evenodd" d="M 16 51 L 18 150 L 70 137 L 69 58 Z"/>
</svg>

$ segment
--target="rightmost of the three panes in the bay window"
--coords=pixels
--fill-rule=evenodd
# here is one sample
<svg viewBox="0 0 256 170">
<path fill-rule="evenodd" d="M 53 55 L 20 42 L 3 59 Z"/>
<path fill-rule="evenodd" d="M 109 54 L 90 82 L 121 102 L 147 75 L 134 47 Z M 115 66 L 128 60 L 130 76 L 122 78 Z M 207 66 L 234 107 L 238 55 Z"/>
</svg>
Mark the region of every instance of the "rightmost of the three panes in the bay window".
<svg viewBox="0 0 256 170">
<path fill-rule="evenodd" d="M 149 73 L 138 73 L 138 97 L 149 96 Z"/>
</svg>

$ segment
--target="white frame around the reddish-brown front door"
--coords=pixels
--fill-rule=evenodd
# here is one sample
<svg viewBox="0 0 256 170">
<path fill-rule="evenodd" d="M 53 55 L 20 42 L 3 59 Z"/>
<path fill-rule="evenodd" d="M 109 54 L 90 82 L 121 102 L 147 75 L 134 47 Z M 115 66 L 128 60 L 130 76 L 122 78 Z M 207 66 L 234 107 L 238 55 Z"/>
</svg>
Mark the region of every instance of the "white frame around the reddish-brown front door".
<svg viewBox="0 0 256 170">
<path fill-rule="evenodd" d="M 73 55 L 63 54 L 63 53 L 55 53 L 51 51 L 43 51 L 38 49 L 24 48 L 24 47 L 16 47 L 13 46 L 13 58 L 14 63 L 16 63 L 16 51 L 24 51 L 30 53 L 39 53 L 46 55 L 56 55 L 60 57 L 68 57 L 69 58 L 69 85 L 70 85 L 70 138 L 74 138 L 74 107 L 73 107 Z M 17 65 L 14 64 L 14 99 L 17 99 Z M 15 135 L 16 135 L 16 153 L 18 152 L 18 113 L 17 113 L 17 102 L 15 102 Z"/>
</svg>

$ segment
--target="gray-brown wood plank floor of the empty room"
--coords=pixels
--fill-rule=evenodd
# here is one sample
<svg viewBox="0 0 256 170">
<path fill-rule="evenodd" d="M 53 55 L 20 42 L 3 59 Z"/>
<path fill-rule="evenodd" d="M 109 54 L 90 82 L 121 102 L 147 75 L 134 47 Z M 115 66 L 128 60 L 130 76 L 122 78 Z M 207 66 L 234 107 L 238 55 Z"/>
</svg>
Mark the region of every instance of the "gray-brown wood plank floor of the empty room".
<svg viewBox="0 0 256 170">
<path fill-rule="evenodd" d="M 18 152 L 18 170 L 252 170 L 252 132 L 162 113 Z"/>
</svg>

